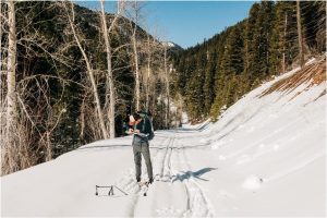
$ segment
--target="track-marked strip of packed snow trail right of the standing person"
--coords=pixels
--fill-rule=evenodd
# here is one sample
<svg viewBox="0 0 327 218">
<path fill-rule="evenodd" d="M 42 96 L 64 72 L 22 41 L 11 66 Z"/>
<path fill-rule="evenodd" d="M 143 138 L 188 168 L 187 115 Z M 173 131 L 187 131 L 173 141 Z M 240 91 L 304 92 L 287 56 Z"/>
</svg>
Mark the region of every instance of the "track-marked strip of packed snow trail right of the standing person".
<svg viewBox="0 0 327 218">
<path fill-rule="evenodd" d="M 179 143 L 180 134 L 175 132 L 166 133 L 166 137 L 168 140 L 166 140 L 164 148 L 153 148 L 156 150 L 153 157 L 154 171 L 158 173 L 149 195 L 154 199 L 152 208 L 156 208 L 156 210 L 145 214 L 142 207 L 136 209 L 140 214 L 136 213 L 135 215 L 213 217 L 210 203 L 202 186 L 196 182 L 196 180 L 201 180 L 201 177 L 192 171 L 186 158 L 185 150 L 192 148 L 182 146 Z M 205 168 L 199 171 L 204 173 L 204 170 Z M 142 197 L 141 201 L 147 202 Z"/>
</svg>

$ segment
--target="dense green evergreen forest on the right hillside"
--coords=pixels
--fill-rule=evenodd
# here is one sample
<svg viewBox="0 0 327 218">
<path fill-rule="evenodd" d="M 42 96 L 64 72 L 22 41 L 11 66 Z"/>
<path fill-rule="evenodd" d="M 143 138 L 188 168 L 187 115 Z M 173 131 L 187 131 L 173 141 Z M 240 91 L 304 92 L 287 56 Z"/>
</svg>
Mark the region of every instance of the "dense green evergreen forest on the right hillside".
<svg viewBox="0 0 327 218">
<path fill-rule="evenodd" d="M 262 82 L 326 51 L 325 22 L 325 1 L 256 2 L 247 19 L 174 59 L 174 94 L 193 122 L 215 120 Z"/>
</svg>

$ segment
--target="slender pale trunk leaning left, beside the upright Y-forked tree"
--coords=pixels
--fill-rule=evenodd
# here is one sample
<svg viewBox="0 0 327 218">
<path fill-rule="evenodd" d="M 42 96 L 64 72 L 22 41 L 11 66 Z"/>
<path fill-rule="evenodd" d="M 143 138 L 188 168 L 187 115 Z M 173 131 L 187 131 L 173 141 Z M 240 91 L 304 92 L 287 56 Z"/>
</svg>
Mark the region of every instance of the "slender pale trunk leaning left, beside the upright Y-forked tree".
<svg viewBox="0 0 327 218">
<path fill-rule="evenodd" d="M 84 61 L 86 63 L 87 74 L 88 74 L 88 77 L 89 77 L 90 83 L 92 83 L 93 95 L 94 95 L 94 98 L 95 98 L 96 110 L 97 110 L 98 118 L 99 118 L 99 123 L 100 123 L 100 128 L 101 128 L 101 132 L 102 132 L 102 137 L 106 140 L 106 138 L 108 138 L 108 133 L 107 133 L 107 129 L 106 129 L 106 124 L 105 124 L 105 120 L 104 120 L 104 116 L 102 116 L 102 110 L 101 110 L 100 99 L 99 99 L 99 95 L 98 95 L 97 84 L 95 82 L 94 72 L 93 72 L 90 62 L 88 60 L 88 57 L 87 57 L 84 48 L 81 45 L 78 35 L 77 35 L 77 33 L 75 31 L 75 27 L 74 27 L 75 13 L 74 13 L 74 5 L 73 5 L 72 2 L 71 2 L 71 13 L 72 14 L 70 14 L 68 9 L 66 9 L 66 12 L 68 12 L 69 23 L 70 23 L 71 29 L 73 32 L 73 36 L 75 38 L 75 41 L 76 41 L 76 44 L 77 44 L 77 46 L 78 46 L 78 48 L 82 52 L 82 56 L 84 58 Z"/>
</svg>

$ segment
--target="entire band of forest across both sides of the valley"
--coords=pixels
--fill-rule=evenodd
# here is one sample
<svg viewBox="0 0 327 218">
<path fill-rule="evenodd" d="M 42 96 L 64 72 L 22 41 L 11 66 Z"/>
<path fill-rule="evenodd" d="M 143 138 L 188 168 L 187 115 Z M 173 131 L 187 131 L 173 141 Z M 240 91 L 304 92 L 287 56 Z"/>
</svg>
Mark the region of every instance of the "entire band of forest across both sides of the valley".
<svg viewBox="0 0 327 218">
<path fill-rule="evenodd" d="M 263 1 L 249 17 L 182 50 L 143 29 L 142 2 L 0 3 L 1 174 L 124 133 L 153 113 L 155 129 L 217 119 L 244 94 L 326 51 L 326 2 Z M 173 47 L 171 47 L 173 45 Z M 174 99 L 172 99 L 173 96 Z M 174 109 L 170 107 L 174 106 Z"/>
</svg>

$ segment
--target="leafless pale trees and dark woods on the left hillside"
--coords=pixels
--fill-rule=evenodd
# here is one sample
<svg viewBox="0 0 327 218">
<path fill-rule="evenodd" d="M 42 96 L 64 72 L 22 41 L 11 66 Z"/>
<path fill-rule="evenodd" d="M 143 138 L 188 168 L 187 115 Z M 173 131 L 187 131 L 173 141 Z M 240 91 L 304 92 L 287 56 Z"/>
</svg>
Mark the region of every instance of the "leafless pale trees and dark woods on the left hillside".
<svg viewBox="0 0 327 218">
<path fill-rule="evenodd" d="M 167 128 L 169 47 L 140 27 L 141 3 L 112 14 L 69 1 L 0 5 L 2 174 L 121 136 L 137 110 Z"/>
</svg>

